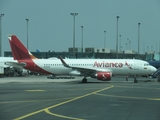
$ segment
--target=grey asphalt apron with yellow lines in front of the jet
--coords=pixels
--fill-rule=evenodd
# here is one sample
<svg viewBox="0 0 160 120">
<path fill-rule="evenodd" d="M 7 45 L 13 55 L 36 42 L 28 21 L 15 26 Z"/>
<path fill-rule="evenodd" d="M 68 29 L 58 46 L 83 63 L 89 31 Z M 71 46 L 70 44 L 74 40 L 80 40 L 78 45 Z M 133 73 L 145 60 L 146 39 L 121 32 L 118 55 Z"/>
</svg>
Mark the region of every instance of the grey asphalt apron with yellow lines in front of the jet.
<svg viewBox="0 0 160 120">
<path fill-rule="evenodd" d="M 0 78 L 0 120 L 160 120 L 156 79 L 81 79 Z"/>
</svg>

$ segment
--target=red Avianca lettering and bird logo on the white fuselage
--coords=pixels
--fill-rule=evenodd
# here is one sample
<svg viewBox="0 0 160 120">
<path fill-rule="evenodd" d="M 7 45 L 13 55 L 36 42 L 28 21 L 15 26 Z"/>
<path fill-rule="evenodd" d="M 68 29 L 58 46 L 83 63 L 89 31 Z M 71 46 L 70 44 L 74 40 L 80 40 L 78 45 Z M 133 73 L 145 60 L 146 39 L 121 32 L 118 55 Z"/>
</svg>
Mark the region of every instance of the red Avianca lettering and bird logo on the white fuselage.
<svg viewBox="0 0 160 120">
<path fill-rule="evenodd" d="M 127 62 L 126 62 L 127 63 Z M 126 65 L 126 64 L 125 64 Z M 94 62 L 94 65 L 93 65 L 93 67 L 106 67 L 106 68 L 122 68 L 124 66 L 124 64 L 123 63 L 121 63 L 121 62 Z M 128 64 L 127 64 L 127 66 L 128 66 Z M 130 67 L 130 66 L 128 66 L 128 67 Z"/>
</svg>

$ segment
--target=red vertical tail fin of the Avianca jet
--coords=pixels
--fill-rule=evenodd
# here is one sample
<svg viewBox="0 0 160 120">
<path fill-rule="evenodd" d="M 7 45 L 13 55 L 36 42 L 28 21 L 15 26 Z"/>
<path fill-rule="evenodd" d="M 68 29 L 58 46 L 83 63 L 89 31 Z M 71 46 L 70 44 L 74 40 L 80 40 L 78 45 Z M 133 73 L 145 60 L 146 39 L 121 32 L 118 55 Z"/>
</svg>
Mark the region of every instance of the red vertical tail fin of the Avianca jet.
<svg viewBox="0 0 160 120">
<path fill-rule="evenodd" d="M 12 50 L 12 55 L 15 60 L 36 59 L 36 57 L 34 57 L 28 51 L 28 49 L 21 43 L 21 41 L 15 35 L 9 36 L 8 39 Z"/>
</svg>

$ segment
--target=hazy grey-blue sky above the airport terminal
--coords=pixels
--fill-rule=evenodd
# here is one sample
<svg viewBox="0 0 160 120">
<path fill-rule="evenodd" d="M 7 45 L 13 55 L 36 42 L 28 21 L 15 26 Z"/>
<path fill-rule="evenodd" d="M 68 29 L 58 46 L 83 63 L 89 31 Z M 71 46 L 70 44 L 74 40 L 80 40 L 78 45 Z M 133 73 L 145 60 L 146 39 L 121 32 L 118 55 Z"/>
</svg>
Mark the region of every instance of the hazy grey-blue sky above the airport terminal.
<svg viewBox="0 0 160 120">
<path fill-rule="evenodd" d="M 140 24 L 140 53 L 159 51 L 160 0 L 0 0 L 2 17 L 2 52 L 10 51 L 7 35 L 15 34 L 29 50 L 43 52 L 68 51 L 73 47 L 73 16 L 76 47 L 116 49 L 116 30 L 121 35 L 122 49 L 138 51 L 138 23 Z M 127 40 L 129 39 L 129 40 Z M 119 39 L 120 41 L 120 39 Z M 128 45 L 126 45 L 126 43 Z M 152 47 L 153 46 L 153 47 Z"/>
</svg>

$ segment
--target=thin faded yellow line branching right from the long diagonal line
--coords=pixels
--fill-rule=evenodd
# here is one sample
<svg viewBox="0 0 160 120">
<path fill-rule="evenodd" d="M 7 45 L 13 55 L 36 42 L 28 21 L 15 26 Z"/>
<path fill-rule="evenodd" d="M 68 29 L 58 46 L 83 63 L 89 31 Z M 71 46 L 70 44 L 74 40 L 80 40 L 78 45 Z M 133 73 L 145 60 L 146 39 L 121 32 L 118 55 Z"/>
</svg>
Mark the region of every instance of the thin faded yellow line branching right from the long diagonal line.
<svg viewBox="0 0 160 120">
<path fill-rule="evenodd" d="M 144 97 L 118 96 L 118 95 L 107 95 L 107 94 L 99 94 L 99 93 L 95 93 L 95 95 L 108 96 L 108 97 L 117 97 L 117 98 L 128 98 L 128 99 L 160 100 L 160 98 L 144 98 Z"/>
</svg>

